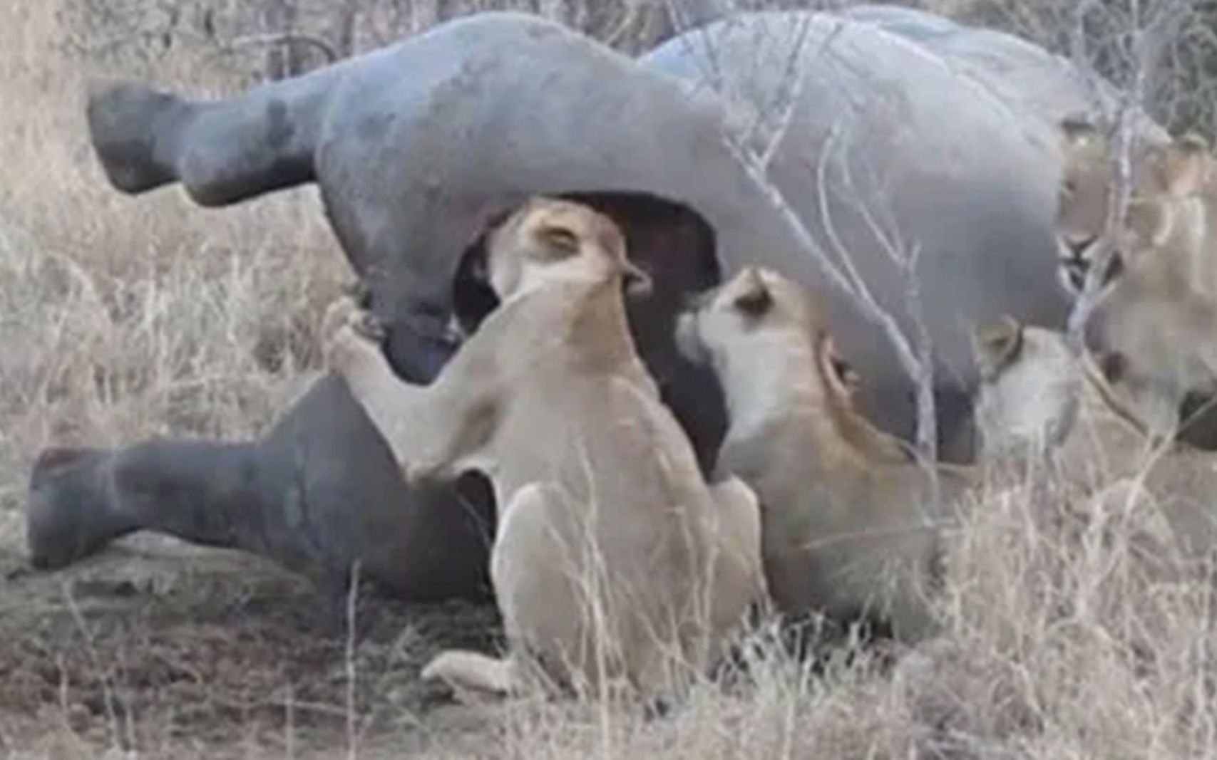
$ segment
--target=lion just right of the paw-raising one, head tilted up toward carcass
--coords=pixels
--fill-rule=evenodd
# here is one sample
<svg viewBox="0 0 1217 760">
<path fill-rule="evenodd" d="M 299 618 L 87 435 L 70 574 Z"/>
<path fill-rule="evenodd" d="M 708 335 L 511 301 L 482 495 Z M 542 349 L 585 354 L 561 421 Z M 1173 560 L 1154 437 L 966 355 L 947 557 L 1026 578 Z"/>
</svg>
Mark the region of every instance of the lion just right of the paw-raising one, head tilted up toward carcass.
<svg viewBox="0 0 1217 760">
<path fill-rule="evenodd" d="M 925 635 L 940 510 L 902 445 L 854 409 L 854 377 L 813 300 L 783 275 L 748 268 L 682 315 L 677 344 L 722 382 L 729 427 L 718 469 L 761 500 L 778 607 Z M 953 495 L 963 482 L 944 472 L 942 485 Z"/>
</svg>

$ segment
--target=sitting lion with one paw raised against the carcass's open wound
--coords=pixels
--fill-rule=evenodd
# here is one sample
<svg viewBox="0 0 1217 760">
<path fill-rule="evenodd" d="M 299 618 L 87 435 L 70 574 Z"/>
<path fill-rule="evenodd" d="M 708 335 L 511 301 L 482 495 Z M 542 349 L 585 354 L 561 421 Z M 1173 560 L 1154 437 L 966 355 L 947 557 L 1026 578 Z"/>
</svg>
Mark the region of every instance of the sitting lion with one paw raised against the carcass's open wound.
<svg viewBox="0 0 1217 760">
<path fill-rule="evenodd" d="M 655 694 L 763 597 L 756 497 L 734 479 L 708 486 L 660 401 L 622 297 L 645 275 L 612 221 L 533 198 L 486 255 L 500 305 L 433 384 L 393 375 L 363 313 L 327 347 L 409 480 L 478 469 L 494 486 L 510 654 L 445 652 L 422 675 L 481 693 L 526 675 L 576 689 L 624 676 Z"/>
</svg>

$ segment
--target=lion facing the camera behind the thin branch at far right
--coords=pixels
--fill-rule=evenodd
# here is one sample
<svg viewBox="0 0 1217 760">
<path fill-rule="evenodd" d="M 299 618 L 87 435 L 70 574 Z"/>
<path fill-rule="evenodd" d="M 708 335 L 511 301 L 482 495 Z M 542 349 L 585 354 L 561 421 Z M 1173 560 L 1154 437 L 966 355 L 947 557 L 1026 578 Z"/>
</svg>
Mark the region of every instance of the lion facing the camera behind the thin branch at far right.
<svg viewBox="0 0 1217 760">
<path fill-rule="evenodd" d="M 1056 213 L 1062 285 L 1081 293 L 1110 252 L 1089 343 L 1126 364 L 1121 393 L 1156 434 L 1172 434 L 1189 394 L 1217 393 L 1217 162 L 1184 136 L 1131 157 L 1123 225 L 1107 230 L 1116 188 L 1104 135 L 1062 123 L 1064 173 Z"/>
</svg>

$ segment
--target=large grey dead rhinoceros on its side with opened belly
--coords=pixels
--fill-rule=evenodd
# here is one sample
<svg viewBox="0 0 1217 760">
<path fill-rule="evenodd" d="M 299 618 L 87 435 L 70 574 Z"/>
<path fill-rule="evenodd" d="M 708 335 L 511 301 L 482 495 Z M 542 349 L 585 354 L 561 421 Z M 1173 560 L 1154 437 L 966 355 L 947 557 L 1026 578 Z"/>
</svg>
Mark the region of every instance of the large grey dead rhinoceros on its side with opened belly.
<svg viewBox="0 0 1217 760">
<path fill-rule="evenodd" d="M 673 347 L 683 297 L 753 263 L 823 285 L 731 145 L 773 147 L 769 175 L 793 210 L 851 253 L 905 326 L 905 280 L 885 236 L 920 250 L 941 427 L 966 450 L 970 326 L 1065 314 L 1049 232 L 1055 123 L 1087 97 L 1038 47 L 912 11 L 742 15 L 636 61 L 535 17 L 484 13 L 218 102 L 111 86 L 91 96 L 89 125 L 125 192 L 181 182 L 223 206 L 318 182 L 388 326 L 386 350 L 413 381 L 450 355 L 454 311 L 473 326 L 493 305 L 464 275 L 490 214 L 537 192 L 605 209 L 655 280 L 632 327 L 705 462 L 723 410 L 713 381 Z M 908 435 L 910 384 L 891 347 L 846 299 L 831 306 L 864 378 L 863 409 Z M 408 490 L 327 377 L 264 440 L 44 452 L 29 546 L 35 564 L 58 567 L 152 529 L 321 575 L 359 559 L 365 578 L 436 598 L 483 587 L 490 516 L 476 477 L 455 491 Z"/>
</svg>

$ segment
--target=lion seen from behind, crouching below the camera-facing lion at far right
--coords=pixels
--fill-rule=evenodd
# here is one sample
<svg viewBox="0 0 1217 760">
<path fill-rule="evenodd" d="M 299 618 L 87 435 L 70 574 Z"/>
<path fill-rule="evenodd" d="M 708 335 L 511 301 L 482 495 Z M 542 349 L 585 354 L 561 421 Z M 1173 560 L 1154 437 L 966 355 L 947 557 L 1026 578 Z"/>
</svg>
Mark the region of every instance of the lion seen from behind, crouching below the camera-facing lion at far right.
<svg viewBox="0 0 1217 760">
<path fill-rule="evenodd" d="M 1044 455 L 1084 508 L 1133 510 L 1155 552 L 1198 558 L 1217 546 L 1217 457 L 1163 441 L 1122 402 L 1127 362 L 1078 356 L 1058 332 L 1010 317 L 975 331 L 982 458 Z"/>
</svg>

